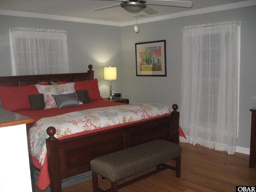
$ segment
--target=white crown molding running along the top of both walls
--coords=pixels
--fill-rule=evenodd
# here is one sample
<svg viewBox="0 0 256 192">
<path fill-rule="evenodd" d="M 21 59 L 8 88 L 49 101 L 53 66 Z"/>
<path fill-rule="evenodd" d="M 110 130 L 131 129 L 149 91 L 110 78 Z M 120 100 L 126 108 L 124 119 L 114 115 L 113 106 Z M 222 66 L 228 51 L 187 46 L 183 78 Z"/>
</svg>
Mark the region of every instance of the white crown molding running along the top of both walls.
<svg viewBox="0 0 256 192">
<path fill-rule="evenodd" d="M 197 14 L 204 14 L 216 11 L 223 11 L 229 9 L 236 9 L 242 8 L 247 6 L 254 6 L 256 5 L 256 0 L 248 0 L 238 3 L 226 4 L 221 6 L 213 6 L 209 8 L 202 8 L 197 10 L 179 12 L 174 14 L 168 14 L 158 17 L 152 17 L 149 19 L 141 19 L 137 20 L 138 24 L 178 18 L 178 17 L 185 17 Z M 30 12 L 18 12 L 18 11 L 10 11 L 10 10 L 0 10 L 0 15 L 8 15 L 8 16 L 18 16 L 18 17 L 29 17 L 29 18 L 41 18 L 41 19 L 51 19 L 51 20 L 62 20 L 62 21 L 70 21 L 70 22 L 82 22 L 82 23 L 91 23 L 91 24 L 101 24 L 101 25 L 111 25 L 111 26 L 129 26 L 136 24 L 135 21 L 132 22 L 108 22 L 102 20 L 93 20 L 93 19 L 84 19 L 84 18 L 76 18 L 76 17 L 66 17 L 66 16 L 56 16 L 56 15 L 49 15 L 49 14 L 38 14 L 38 13 L 30 13 Z"/>
</svg>

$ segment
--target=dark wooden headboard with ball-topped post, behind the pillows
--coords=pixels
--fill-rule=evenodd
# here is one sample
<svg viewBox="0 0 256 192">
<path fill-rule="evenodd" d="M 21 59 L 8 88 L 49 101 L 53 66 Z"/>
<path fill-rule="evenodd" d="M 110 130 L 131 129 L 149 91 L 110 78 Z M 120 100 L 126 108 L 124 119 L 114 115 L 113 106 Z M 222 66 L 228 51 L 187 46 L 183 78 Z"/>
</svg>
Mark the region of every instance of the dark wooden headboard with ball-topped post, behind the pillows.
<svg viewBox="0 0 256 192">
<path fill-rule="evenodd" d="M 24 76 L 6 76 L 0 77 L 0 85 L 2 86 L 25 86 L 37 84 L 40 82 L 47 81 L 64 81 L 64 82 L 74 82 L 74 81 L 84 81 L 93 80 L 94 71 L 92 70 L 92 65 L 88 66 L 89 70 L 87 73 L 68 73 L 68 74 L 47 74 L 47 75 L 24 75 Z"/>
</svg>

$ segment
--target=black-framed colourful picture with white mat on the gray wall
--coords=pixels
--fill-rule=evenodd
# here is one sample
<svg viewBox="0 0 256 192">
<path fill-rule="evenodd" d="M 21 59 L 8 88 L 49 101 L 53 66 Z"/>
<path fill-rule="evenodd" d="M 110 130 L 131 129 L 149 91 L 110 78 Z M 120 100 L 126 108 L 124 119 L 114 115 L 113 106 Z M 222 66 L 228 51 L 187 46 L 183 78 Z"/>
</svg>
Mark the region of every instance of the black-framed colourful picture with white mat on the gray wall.
<svg viewBox="0 0 256 192">
<path fill-rule="evenodd" d="M 136 76 L 166 76 L 165 40 L 135 44 Z"/>
</svg>

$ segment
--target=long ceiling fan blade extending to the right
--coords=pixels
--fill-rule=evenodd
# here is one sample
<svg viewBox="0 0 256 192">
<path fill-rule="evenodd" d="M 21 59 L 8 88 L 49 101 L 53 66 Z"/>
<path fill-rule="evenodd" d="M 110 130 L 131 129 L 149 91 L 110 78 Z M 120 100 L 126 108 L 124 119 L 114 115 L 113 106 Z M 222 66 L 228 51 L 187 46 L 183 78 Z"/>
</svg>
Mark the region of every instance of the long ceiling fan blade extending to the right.
<svg viewBox="0 0 256 192">
<path fill-rule="evenodd" d="M 163 5 L 174 7 L 192 7 L 191 1 L 174 1 L 174 0 L 146 0 L 147 5 Z"/>
</svg>

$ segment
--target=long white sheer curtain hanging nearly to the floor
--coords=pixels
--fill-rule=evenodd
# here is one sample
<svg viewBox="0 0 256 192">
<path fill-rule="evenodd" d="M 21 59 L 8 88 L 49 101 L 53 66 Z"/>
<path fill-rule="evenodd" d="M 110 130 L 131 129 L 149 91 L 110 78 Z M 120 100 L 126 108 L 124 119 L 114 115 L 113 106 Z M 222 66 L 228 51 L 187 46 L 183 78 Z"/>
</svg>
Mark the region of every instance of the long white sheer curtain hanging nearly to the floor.
<svg viewBox="0 0 256 192">
<path fill-rule="evenodd" d="M 183 31 L 180 125 L 187 139 L 234 154 L 238 128 L 240 22 Z"/>
</svg>

